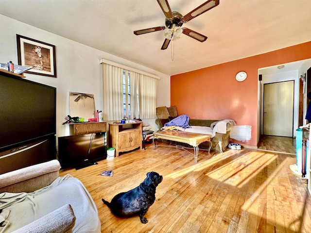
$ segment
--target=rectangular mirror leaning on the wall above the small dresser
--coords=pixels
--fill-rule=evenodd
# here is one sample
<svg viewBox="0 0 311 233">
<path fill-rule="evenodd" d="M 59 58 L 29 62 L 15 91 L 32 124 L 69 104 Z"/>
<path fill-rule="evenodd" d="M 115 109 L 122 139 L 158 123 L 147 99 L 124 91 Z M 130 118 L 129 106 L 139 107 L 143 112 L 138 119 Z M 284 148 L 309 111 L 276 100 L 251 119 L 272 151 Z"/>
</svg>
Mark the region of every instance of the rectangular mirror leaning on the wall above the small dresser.
<svg viewBox="0 0 311 233">
<path fill-rule="evenodd" d="M 84 117 L 84 121 L 94 118 L 95 101 L 94 95 L 69 92 L 70 116 Z"/>
</svg>

